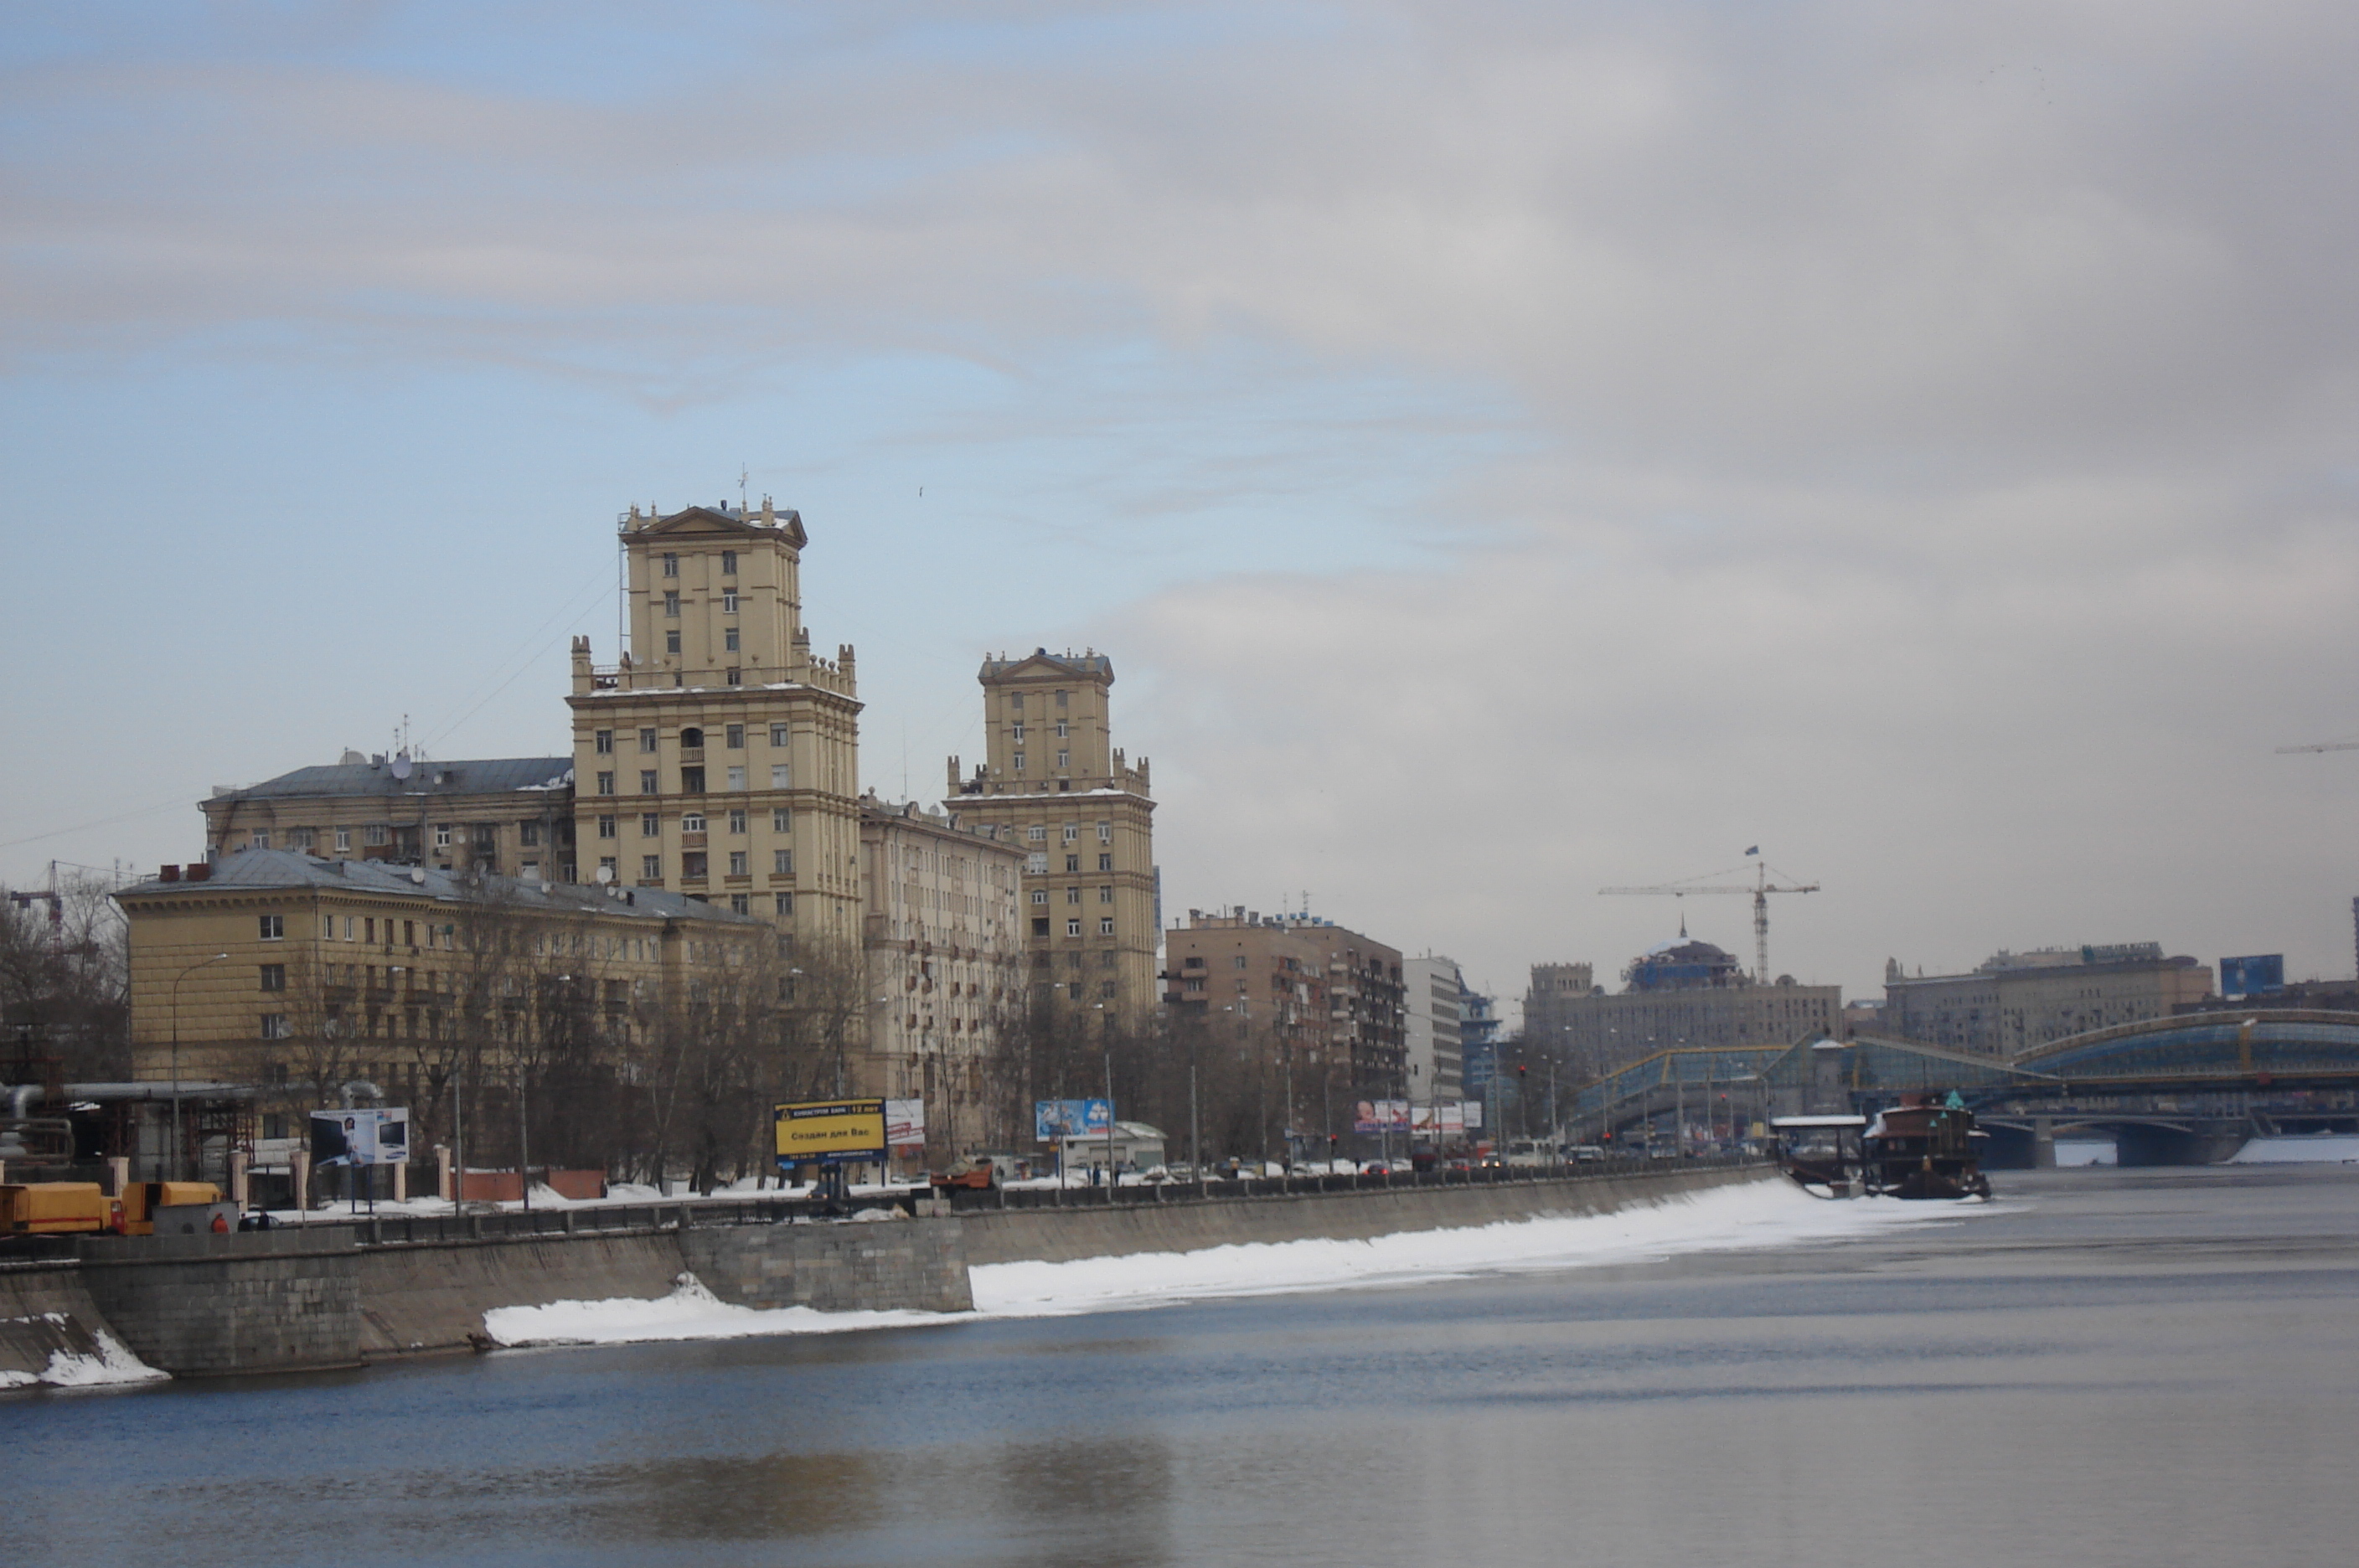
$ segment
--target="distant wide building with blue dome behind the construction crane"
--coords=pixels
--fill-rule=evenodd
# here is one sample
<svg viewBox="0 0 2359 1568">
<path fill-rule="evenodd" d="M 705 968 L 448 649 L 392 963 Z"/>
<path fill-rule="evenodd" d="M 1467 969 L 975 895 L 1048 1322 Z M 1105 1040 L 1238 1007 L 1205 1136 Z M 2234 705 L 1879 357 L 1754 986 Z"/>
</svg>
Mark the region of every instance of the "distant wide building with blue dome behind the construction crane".
<svg viewBox="0 0 2359 1568">
<path fill-rule="evenodd" d="M 1840 986 L 1755 986 L 1708 941 L 1663 943 L 1632 960 L 1623 981 L 1616 995 L 1595 986 L 1573 995 L 1566 976 L 1562 990 L 1543 993 L 1545 1035 L 1526 1014 L 1524 1045 L 1585 1082 L 1673 1047 L 1793 1045 L 1842 1030 Z"/>
</svg>

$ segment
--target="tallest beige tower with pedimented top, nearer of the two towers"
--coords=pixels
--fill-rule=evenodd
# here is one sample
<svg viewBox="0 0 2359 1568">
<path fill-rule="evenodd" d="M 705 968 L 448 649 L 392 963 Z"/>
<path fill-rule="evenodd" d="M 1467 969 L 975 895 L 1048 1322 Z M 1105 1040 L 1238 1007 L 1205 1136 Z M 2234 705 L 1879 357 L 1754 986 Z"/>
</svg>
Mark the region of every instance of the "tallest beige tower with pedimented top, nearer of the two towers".
<svg viewBox="0 0 2359 1568">
<path fill-rule="evenodd" d="M 632 507 L 630 648 L 573 639 L 576 851 L 587 882 L 760 915 L 802 943 L 861 936 L 852 648 L 802 625 L 795 512 Z"/>
</svg>

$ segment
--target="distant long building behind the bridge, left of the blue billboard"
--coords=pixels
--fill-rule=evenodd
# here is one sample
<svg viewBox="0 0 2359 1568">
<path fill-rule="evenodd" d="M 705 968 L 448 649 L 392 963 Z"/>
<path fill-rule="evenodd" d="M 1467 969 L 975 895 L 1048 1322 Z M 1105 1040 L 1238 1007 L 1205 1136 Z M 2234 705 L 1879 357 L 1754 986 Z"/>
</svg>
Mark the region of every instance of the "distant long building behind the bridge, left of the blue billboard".
<svg viewBox="0 0 2359 1568">
<path fill-rule="evenodd" d="M 1901 1040 L 2012 1059 L 2116 1023 L 2168 1019 L 2210 995 L 2210 964 L 2161 943 L 1993 953 L 1972 974 L 1904 974 L 1885 960 L 1880 1028 Z"/>
</svg>

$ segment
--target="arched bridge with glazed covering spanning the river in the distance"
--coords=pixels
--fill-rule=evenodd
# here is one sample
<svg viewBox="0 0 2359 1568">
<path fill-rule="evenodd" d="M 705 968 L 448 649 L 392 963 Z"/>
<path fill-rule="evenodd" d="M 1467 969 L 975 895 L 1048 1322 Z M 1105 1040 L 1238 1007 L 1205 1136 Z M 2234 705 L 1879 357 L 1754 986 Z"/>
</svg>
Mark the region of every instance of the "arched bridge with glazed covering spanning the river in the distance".
<svg viewBox="0 0 2359 1568">
<path fill-rule="evenodd" d="M 2248 1137 L 2359 1132 L 2359 1014 L 2234 1009 L 2121 1023 L 2012 1061 L 1859 1035 L 1788 1047 L 1675 1047 L 1585 1085 L 1583 1141 L 1720 1137 L 1767 1115 L 1873 1113 L 1956 1092 L 1993 1134 L 1993 1165 L 2045 1165 L 2059 1134 L 2114 1139 L 2125 1165 L 2222 1160 Z"/>
</svg>

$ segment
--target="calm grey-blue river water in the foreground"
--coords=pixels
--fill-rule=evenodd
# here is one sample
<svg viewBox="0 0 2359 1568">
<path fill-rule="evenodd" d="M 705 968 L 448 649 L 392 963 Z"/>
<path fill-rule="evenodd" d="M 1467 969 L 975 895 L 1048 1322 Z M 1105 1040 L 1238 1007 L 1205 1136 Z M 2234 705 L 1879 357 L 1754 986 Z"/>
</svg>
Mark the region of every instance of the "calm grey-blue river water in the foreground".
<svg viewBox="0 0 2359 1568">
<path fill-rule="evenodd" d="M 50 1563 L 2359 1563 L 2359 1167 L 1842 1243 L 0 1398 Z"/>
</svg>

